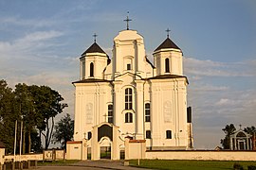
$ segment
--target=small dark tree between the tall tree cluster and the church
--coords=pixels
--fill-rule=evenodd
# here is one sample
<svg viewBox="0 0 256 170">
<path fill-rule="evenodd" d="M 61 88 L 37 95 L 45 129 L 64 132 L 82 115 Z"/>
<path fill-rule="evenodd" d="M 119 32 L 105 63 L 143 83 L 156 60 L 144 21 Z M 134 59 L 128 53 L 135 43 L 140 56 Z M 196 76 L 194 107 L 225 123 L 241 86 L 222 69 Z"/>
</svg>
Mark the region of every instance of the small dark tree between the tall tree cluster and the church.
<svg viewBox="0 0 256 170">
<path fill-rule="evenodd" d="M 74 120 L 71 120 L 70 115 L 67 113 L 57 125 L 54 127 L 53 142 L 61 143 L 62 148 L 66 148 L 66 142 L 73 139 L 74 134 Z"/>
</svg>

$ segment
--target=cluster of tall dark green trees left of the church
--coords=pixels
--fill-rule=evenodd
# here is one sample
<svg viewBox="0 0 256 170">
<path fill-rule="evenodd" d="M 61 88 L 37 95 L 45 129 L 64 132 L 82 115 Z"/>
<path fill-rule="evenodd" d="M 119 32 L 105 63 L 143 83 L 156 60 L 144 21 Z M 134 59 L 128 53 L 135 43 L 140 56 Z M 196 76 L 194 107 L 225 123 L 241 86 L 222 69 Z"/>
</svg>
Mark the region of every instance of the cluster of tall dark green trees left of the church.
<svg viewBox="0 0 256 170">
<path fill-rule="evenodd" d="M 48 147 L 54 127 L 54 117 L 67 105 L 62 95 L 47 86 L 27 86 L 19 83 L 12 91 L 5 80 L 0 80 L 0 139 L 8 153 L 13 153 L 15 121 L 17 134 L 23 122 L 23 153 L 42 150 L 41 136 Z M 19 147 L 20 135 L 17 135 Z M 17 148 L 18 149 L 18 148 Z"/>
</svg>

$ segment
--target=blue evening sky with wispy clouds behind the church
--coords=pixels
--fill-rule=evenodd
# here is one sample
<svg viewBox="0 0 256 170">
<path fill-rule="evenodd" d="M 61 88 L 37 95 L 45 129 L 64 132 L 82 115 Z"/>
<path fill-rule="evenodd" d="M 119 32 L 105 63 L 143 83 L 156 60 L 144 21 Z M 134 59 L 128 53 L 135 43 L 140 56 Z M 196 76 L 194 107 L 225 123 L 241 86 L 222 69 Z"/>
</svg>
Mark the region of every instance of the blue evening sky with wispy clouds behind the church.
<svg viewBox="0 0 256 170">
<path fill-rule="evenodd" d="M 128 10 L 149 59 L 168 27 L 183 51 L 196 148 L 220 145 L 227 124 L 256 126 L 254 0 L 0 0 L 0 78 L 50 86 L 73 115 L 80 55 L 97 33 L 112 56 Z"/>
</svg>

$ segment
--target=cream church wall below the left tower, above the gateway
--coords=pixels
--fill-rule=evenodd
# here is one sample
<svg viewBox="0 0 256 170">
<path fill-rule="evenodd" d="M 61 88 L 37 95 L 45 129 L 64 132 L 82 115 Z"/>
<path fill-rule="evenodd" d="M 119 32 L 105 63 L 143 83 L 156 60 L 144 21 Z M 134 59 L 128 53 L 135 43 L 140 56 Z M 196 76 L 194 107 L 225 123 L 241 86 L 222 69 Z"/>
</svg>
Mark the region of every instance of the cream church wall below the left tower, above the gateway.
<svg viewBox="0 0 256 170">
<path fill-rule="evenodd" d="M 75 141 L 87 138 L 93 126 L 106 122 L 107 103 L 112 102 L 111 93 L 112 87 L 108 82 L 76 86 Z"/>
</svg>

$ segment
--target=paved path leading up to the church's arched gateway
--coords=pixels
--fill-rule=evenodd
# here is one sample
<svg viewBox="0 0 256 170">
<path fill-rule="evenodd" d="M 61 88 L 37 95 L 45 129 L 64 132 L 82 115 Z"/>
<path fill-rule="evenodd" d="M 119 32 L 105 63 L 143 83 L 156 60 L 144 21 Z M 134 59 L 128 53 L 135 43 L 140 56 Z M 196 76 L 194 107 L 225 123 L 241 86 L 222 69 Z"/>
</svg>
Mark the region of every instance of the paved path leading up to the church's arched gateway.
<svg viewBox="0 0 256 170">
<path fill-rule="evenodd" d="M 100 170 L 100 169 L 117 169 L 117 170 L 143 170 L 143 168 L 124 166 L 123 161 L 78 161 L 72 163 L 70 166 L 38 166 L 37 169 L 40 170 L 82 170 L 82 169 L 92 169 L 92 170 Z"/>
</svg>

